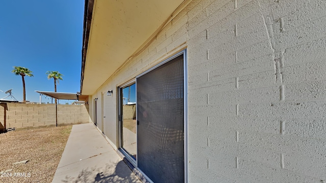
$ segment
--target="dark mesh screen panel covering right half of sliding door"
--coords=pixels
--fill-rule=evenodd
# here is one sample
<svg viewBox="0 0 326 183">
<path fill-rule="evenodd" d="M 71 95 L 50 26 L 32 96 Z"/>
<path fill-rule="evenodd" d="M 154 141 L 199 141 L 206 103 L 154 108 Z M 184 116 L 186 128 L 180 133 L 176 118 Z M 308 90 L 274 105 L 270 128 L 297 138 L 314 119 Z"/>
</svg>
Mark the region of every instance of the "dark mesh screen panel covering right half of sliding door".
<svg viewBox="0 0 326 183">
<path fill-rule="evenodd" d="M 184 182 L 184 56 L 137 77 L 138 167 L 153 182 Z"/>
</svg>

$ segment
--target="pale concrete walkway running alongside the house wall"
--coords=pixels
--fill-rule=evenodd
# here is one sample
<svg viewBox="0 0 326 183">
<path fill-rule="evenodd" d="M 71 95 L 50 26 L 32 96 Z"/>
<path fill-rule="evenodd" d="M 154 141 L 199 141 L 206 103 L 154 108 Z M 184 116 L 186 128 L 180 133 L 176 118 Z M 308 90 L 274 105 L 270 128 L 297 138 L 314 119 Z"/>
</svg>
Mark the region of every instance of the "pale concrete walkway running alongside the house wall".
<svg viewBox="0 0 326 183">
<path fill-rule="evenodd" d="M 93 124 L 72 126 L 52 182 L 141 183 Z"/>
</svg>

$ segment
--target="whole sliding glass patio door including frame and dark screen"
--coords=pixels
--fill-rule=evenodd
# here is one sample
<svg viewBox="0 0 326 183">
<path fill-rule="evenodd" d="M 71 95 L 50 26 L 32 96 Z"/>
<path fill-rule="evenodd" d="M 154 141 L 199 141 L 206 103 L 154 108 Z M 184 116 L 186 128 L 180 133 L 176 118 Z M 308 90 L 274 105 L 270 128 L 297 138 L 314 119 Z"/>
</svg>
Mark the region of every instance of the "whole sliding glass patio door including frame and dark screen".
<svg viewBox="0 0 326 183">
<path fill-rule="evenodd" d="M 118 87 L 120 151 L 153 182 L 186 182 L 185 51 Z"/>
</svg>

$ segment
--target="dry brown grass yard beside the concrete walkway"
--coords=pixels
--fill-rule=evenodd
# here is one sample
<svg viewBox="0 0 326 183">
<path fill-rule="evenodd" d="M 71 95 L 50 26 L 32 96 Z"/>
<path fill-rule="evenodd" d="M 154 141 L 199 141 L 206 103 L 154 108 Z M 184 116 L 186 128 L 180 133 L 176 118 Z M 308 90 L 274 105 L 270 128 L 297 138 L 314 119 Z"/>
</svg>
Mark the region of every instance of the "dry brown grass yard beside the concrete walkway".
<svg viewBox="0 0 326 183">
<path fill-rule="evenodd" d="M 0 182 L 51 182 L 70 131 L 65 126 L 0 134 L 0 172 L 12 169 Z M 23 160 L 30 161 L 13 165 Z"/>
</svg>

